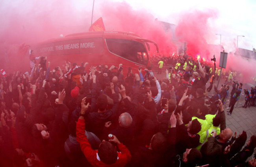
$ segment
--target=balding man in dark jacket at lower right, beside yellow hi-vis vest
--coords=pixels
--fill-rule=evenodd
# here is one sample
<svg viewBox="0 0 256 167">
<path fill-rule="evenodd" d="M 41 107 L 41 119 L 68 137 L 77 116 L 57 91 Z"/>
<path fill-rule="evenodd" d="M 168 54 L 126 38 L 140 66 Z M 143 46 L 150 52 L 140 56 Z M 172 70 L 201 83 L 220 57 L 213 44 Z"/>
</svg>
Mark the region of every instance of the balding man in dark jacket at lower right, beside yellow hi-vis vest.
<svg viewBox="0 0 256 167">
<path fill-rule="evenodd" d="M 232 134 L 230 128 L 221 130 L 221 133 L 217 136 L 213 132 L 212 137 L 208 138 L 208 142 L 202 146 L 202 164 L 215 166 L 218 163 L 220 165 L 219 163 L 222 163 L 221 157 L 223 157 L 224 149 L 228 146 L 228 140 L 232 137 Z"/>
</svg>

